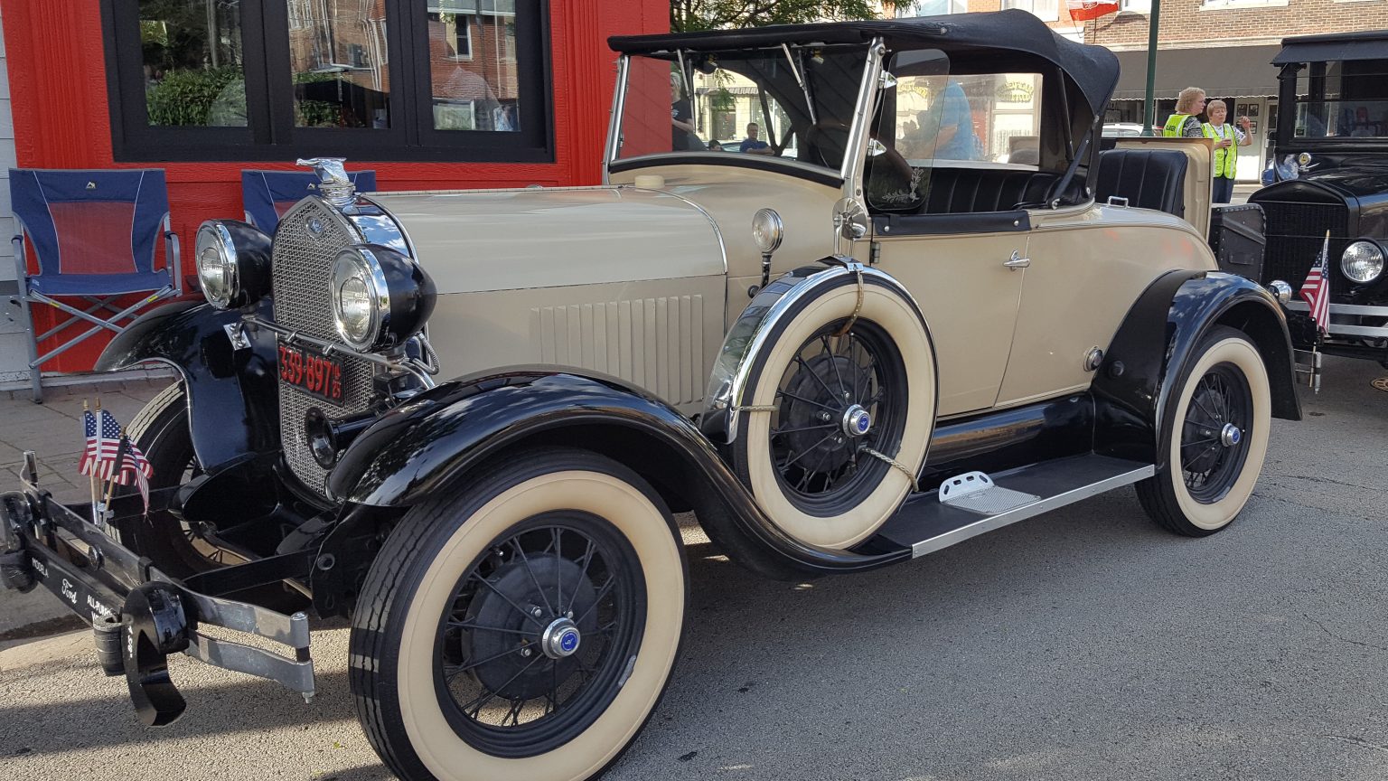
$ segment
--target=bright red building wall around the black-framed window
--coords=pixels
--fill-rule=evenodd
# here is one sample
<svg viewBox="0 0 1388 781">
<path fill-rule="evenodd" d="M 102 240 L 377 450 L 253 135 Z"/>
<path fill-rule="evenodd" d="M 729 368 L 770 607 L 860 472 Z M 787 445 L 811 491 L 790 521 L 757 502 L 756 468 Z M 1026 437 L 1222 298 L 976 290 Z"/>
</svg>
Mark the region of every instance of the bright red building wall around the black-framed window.
<svg viewBox="0 0 1388 781">
<path fill-rule="evenodd" d="M 591 185 L 601 178 L 616 56 L 609 35 L 669 29 L 669 0 L 573 0 L 550 3 L 554 163 L 379 163 L 382 190 Z M 101 10 L 97 0 L 0 0 L 15 151 L 21 168 L 164 168 L 174 229 L 192 274 L 193 238 L 204 220 L 242 218 L 242 168 L 293 168 L 278 163 L 115 163 L 107 106 Z M 54 311 L 35 310 L 39 332 Z M 76 328 L 76 327 L 74 327 Z M 69 329 L 71 331 L 71 329 Z M 79 346 L 43 365 L 85 371 L 101 343 Z M 47 346 L 40 345 L 40 353 Z"/>
</svg>

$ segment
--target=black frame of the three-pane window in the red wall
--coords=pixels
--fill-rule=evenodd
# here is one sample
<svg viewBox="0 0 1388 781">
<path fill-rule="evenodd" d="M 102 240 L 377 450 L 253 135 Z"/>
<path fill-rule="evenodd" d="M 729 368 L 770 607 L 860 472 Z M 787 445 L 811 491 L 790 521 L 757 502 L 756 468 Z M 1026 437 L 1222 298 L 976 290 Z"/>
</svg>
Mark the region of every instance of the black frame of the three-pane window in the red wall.
<svg viewBox="0 0 1388 781">
<path fill-rule="evenodd" d="M 294 126 L 289 7 L 242 1 L 246 128 L 149 124 L 139 3 L 101 0 L 111 149 L 117 163 L 283 161 L 336 156 L 371 161 L 554 163 L 550 0 L 515 0 L 520 131 L 437 131 L 428 3 L 386 8 L 390 128 Z"/>
</svg>

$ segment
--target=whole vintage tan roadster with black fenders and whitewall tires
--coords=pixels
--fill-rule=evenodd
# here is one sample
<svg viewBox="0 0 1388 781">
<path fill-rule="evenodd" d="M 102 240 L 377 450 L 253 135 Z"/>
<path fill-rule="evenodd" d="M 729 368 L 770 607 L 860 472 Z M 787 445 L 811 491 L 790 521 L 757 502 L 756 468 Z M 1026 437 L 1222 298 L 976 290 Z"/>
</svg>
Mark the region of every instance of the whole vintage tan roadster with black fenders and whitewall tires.
<svg viewBox="0 0 1388 781">
<path fill-rule="evenodd" d="M 1110 153 L 1130 195 L 1097 199 L 1109 51 L 1023 11 L 612 46 L 602 186 L 365 196 L 312 161 L 273 239 L 203 225 L 207 303 L 103 354 L 182 377 L 133 424 L 150 514 L 3 496 L 6 582 L 67 582 L 146 723 L 178 652 L 311 692 L 297 602 L 351 617 L 400 777 L 591 778 L 679 656 L 672 513 L 805 578 L 1133 484 L 1177 534 L 1244 507 L 1301 414 L 1285 320 L 1174 214 L 1184 157 Z M 769 153 L 673 128 L 672 81 L 754 96 Z"/>
</svg>

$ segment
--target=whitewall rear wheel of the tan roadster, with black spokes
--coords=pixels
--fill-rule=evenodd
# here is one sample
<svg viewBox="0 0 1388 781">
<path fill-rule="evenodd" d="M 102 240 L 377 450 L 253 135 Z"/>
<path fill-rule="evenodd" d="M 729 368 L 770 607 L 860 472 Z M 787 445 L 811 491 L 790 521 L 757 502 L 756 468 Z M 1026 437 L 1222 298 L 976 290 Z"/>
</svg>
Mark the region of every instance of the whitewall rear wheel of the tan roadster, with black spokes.
<svg viewBox="0 0 1388 781">
<path fill-rule="evenodd" d="M 1258 346 L 1241 331 L 1212 328 L 1174 378 L 1159 432 L 1165 463 L 1137 485 L 1142 509 L 1177 534 L 1223 529 L 1253 493 L 1270 428 Z"/>
</svg>

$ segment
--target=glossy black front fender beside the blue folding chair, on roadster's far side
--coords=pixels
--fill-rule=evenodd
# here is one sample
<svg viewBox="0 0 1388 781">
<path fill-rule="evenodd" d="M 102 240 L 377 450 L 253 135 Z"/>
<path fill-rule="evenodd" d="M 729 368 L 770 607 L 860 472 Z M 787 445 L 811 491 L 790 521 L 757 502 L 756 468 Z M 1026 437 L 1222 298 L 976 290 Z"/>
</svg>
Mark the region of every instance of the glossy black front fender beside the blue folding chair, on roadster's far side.
<svg viewBox="0 0 1388 781">
<path fill-rule="evenodd" d="M 261 304 L 269 317 L 269 303 Z M 146 363 L 178 370 L 187 392 L 193 450 L 215 474 L 279 450 L 278 354 L 273 334 L 243 328 L 248 349 L 232 347 L 228 325 L 242 313 L 207 302 L 172 302 L 136 318 L 101 350 L 97 371 Z"/>
</svg>

